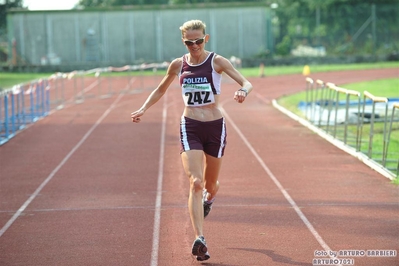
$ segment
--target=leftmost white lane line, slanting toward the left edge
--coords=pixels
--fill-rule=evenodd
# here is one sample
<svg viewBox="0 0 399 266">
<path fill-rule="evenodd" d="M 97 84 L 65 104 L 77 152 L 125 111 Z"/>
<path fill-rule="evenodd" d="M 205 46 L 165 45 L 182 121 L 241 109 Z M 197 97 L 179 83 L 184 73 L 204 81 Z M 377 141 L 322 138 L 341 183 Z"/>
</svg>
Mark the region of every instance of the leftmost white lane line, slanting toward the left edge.
<svg viewBox="0 0 399 266">
<path fill-rule="evenodd" d="M 50 175 L 40 184 L 35 192 L 28 198 L 27 201 L 18 209 L 11 219 L 1 228 L 0 237 L 7 231 L 7 229 L 15 222 L 15 220 L 21 215 L 21 213 L 29 206 L 29 204 L 39 195 L 40 191 L 47 185 L 48 182 L 55 176 L 55 174 L 61 169 L 62 166 L 71 158 L 71 156 L 79 149 L 79 147 L 86 141 L 96 127 L 104 120 L 104 118 L 111 112 L 116 106 L 119 100 L 123 97 L 123 94 L 119 94 L 111 106 L 103 113 L 103 115 L 96 121 L 96 123 L 86 132 L 83 138 L 76 144 L 75 147 L 64 157 L 64 159 L 58 164 L 58 166 L 50 173 Z"/>
</svg>

